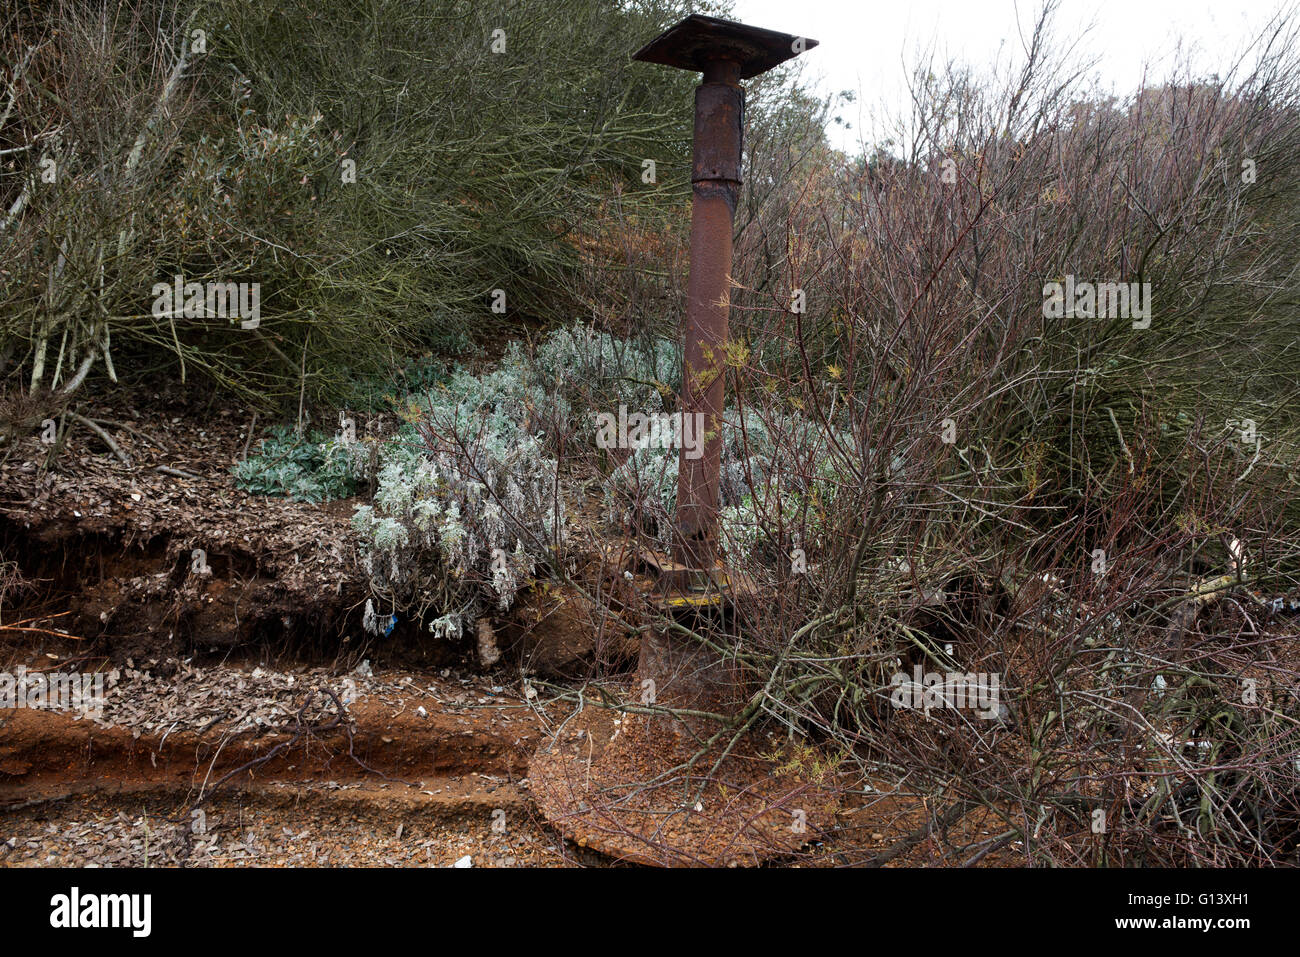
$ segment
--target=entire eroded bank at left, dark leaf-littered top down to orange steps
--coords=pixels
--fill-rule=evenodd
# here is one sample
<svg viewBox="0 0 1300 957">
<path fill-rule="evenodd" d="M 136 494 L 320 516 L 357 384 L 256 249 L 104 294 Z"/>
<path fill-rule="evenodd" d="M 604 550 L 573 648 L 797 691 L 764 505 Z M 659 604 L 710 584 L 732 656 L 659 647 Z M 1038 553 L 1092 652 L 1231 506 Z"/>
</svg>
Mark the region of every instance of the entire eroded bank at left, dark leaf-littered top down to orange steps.
<svg viewBox="0 0 1300 957">
<path fill-rule="evenodd" d="M 0 711 L 0 859 L 424 866 L 480 845 L 497 849 L 480 863 L 562 859 L 521 784 L 543 722 L 520 685 L 582 666 L 571 615 L 524 602 L 486 671 L 473 642 L 376 640 L 355 502 L 230 480 L 251 416 L 165 395 L 87 415 L 116 452 L 74 428 L 57 459 L 32 434 L 0 463 L 16 572 L 0 671 L 105 683 L 94 715 Z"/>
</svg>

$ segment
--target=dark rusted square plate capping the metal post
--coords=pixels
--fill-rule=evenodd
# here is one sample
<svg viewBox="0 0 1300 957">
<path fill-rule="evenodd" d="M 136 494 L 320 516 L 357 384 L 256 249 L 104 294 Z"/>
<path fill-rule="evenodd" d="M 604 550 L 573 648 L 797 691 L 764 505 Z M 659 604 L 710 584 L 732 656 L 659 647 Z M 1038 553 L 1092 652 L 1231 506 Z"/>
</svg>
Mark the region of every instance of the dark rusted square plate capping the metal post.
<svg viewBox="0 0 1300 957">
<path fill-rule="evenodd" d="M 655 36 L 632 59 L 699 73 L 710 61 L 731 60 L 740 64 L 740 78 L 749 79 L 815 46 L 816 40 L 806 36 L 694 13 Z"/>
</svg>

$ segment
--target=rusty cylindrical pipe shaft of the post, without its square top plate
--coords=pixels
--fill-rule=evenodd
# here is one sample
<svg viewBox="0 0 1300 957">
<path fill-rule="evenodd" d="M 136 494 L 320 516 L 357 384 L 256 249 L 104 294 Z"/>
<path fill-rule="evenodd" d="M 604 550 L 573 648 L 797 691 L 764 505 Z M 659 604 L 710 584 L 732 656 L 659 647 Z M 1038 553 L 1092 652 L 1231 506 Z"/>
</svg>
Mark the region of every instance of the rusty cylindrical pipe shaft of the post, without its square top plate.
<svg viewBox="0 0 1300 957">
<path fill-rule="evenodd" d="M 740 69 L 731 60 L 711 61 L 696 90 L 682 415 L 694 416 L 689 434 L 703 441 L 703 454 L 686 443 L 679 452 L 675 544 L 677 560 L 693 568 L 712 567 L 718 551 L 732 230 L 745 129 Z"/>
</svg>

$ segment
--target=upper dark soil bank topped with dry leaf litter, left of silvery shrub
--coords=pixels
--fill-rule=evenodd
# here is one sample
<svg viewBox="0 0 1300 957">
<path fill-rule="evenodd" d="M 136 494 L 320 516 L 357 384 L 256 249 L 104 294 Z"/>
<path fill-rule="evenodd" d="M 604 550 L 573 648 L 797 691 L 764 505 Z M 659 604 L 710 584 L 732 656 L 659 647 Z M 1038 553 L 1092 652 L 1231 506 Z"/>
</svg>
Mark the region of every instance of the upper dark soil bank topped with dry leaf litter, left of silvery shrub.
<svg viewBox="0 0 1300 957">
<path fill-rule="evenodd" d="M 324 651 L 364 640 L 367 590 L 348 524 L 355 502 L 235 488 L 229 468 L 250 445 L 251 416 L 203 416 L 162 397 L 144 411 L 86 415 L 130 464 L 75 423 L 61 447 L 27 436 L 5 450 L 0 554 L 31 583 L 9 620 L 68 612 L 58 629 L 98 638 L 96 651 L 114 662 L 246 644 Z M 404 650 L 429 664 L 451 659 L 436 642 Z"/>
</svg>

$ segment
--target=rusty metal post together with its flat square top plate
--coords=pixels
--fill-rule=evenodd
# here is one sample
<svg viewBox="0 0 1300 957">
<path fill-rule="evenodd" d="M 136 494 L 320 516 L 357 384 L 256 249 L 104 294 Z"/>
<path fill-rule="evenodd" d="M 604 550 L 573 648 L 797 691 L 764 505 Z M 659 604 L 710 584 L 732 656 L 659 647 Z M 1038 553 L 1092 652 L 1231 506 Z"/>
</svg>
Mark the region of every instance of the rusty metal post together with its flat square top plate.
<svg viewBox="0 0 1300 957">
<path fill-rule="evenodd" d="M 697 14 L 633 56 L 703 73 L 696 90 L 681 413 L 702 426 L 693 434 L 707 441 L 702 455 L 685 445 L 679 452 L 673 558 L 686 568 L 711 570 L 718 559 L 732 230 L 745 130 L 745 91 L 740 82 L 815 46 L 816 40 L 807 38 Z"/>
</svg>

